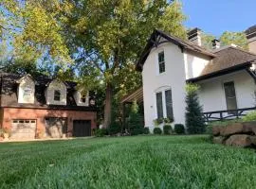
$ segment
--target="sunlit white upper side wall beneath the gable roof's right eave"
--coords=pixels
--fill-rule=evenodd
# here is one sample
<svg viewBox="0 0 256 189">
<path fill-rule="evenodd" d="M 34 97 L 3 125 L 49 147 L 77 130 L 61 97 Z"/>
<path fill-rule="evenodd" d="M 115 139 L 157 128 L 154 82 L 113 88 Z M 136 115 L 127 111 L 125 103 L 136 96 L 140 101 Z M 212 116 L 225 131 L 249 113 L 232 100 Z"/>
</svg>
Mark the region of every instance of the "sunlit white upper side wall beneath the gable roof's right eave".
<svg viewBox="0 0 256 189">
<path fill-rule="evenodd" d="M 186 50 L 184 52 L 184 60 L 186 79 L 189 79 L 192 77 L 199 77 L 201 75 L 205 66 L 210 62 L 210 57 Z"/>
</svg>

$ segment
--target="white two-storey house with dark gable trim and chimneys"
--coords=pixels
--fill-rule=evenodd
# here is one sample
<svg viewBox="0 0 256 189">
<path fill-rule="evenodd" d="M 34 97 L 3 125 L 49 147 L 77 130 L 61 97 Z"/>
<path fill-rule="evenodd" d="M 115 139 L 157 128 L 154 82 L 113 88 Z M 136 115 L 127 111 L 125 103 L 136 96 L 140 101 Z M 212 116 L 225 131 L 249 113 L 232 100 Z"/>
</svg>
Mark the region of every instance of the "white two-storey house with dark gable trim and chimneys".
<svg viewBox="0 0 256 189">
<path fill-rule="evenodd" d="M 251 52 L 236 45 L 220 47 L 217 40 L 206 49 L 198 28 L 188 35 L 186 41 L 155 30 L 137 62 L 143 78 L 145 127 L 153 129 L 155 119 L 167 117 L 185 124 L 188 82 L 200 85 L 199 100 L 209 120 L 239 116 L 256 105 L 256 26 L 247 29 Z M 136 99 L 135 94 L 123 102 Z"/>
</svg>

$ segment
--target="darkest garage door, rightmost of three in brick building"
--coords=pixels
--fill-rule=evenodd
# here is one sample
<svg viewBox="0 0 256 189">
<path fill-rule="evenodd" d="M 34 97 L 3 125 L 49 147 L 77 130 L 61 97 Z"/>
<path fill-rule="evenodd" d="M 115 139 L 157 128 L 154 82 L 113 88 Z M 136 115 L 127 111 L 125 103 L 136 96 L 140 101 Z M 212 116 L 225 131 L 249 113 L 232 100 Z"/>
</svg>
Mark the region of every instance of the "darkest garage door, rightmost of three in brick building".
<svg viewBox="0 0 256 189">
<path fill-rule="evenodd" d="M 89 120 L 74 120 L 73 121 L 73 136 L 91 136 L 91 121 Z"/>
</svg>

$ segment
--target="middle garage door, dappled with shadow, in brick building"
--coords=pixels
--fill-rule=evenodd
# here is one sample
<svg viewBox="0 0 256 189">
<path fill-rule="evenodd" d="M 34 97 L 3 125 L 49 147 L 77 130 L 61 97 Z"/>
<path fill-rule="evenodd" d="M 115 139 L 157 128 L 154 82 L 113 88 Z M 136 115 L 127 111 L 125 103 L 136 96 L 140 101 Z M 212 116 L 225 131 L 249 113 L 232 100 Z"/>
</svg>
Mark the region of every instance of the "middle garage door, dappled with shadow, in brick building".
<svg viewBox="0 0 256 189">
<path fill-rule="evenodd" d="M 67 133 L 67 119 L 64 117 L 46 117 L 46 137 L 62 138 Z"/>
</svg>

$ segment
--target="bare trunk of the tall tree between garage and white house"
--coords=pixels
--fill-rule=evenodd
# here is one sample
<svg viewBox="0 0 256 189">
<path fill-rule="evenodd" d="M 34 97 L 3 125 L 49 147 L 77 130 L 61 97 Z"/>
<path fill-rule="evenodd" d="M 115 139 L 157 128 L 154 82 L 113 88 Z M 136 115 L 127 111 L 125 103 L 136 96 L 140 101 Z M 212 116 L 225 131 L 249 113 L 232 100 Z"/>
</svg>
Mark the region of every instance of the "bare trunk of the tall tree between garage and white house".
<svg viewBox="0 0 256 189">
<path fill-rule="evenodd" d="M 107 83 L 106 86 L 106 100 L 105 100 L 105 107 L 104 107 L 104 124 L 103 128 L 109 128 L 111 122 L 111 113 L 112 113 L 112 86 L 111 84 Z"/>
</svg>

